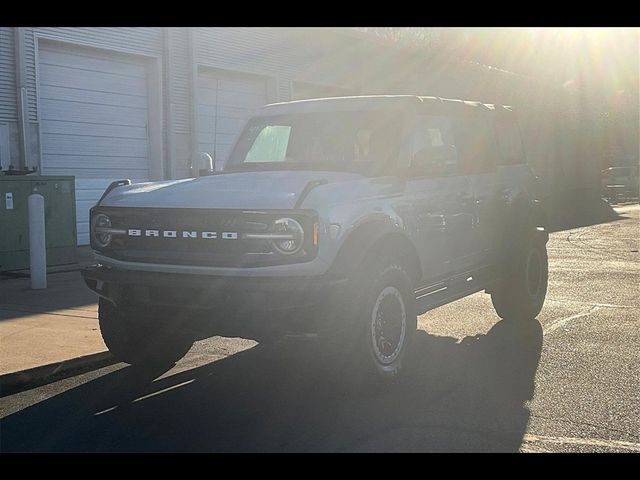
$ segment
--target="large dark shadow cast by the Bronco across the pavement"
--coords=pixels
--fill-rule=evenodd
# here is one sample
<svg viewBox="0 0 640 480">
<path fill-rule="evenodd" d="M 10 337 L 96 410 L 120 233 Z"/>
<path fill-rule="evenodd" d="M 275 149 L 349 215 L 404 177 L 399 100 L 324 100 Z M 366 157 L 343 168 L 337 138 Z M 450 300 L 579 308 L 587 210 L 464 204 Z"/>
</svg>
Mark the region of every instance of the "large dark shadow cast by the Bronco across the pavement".
<svg viewBox="0 0 640 480">
<path fill-rule="evenodd" d="M 2 420 L 9 451 L 517 451 L 537 320 L 461 342 L 418 331 L 406 375 L 371 391 L 285 339 L 153 381 L 125 367 Z"/>
</svg>

